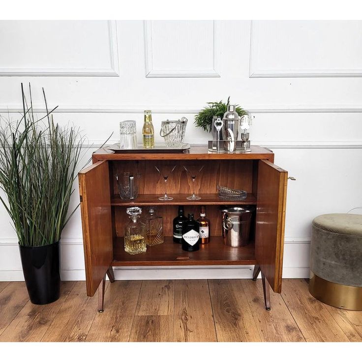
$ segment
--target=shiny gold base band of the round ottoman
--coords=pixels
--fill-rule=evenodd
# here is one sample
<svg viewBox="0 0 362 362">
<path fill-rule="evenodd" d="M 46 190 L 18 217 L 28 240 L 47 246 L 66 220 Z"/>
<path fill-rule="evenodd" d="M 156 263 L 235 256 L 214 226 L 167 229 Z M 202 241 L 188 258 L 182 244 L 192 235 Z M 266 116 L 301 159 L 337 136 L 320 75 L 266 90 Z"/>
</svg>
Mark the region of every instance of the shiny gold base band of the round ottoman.
<svg viewBox="0 0 362 362">
<path fill-rule="evenodd" d="M 319 301 L 333 307 L 362 310 L 362 287 L 333 283 L 320 278 L 312 271 L 309 279 L 309 293 Z"/>
</svg>

